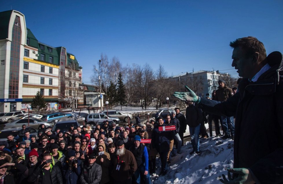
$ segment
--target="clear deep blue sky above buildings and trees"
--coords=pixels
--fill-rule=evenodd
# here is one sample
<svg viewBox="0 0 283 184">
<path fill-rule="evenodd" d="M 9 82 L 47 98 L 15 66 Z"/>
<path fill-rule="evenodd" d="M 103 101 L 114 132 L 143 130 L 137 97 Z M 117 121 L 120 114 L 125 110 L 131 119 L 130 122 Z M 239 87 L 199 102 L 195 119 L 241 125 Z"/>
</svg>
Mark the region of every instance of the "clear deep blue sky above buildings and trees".
<svg viewBox="0 0 283 184">
<path fill-rule="evenodd" d="M 283 51 L 281 0 L 0 2 L 25 15 L 38 41 L 73 53 L 89 84 L 101 53 L 123 66 L 162 64 L 169 76 L 214 68 L 236 77 L 230 41 L 255 36 L 267 54 Z"/>
</svg>

